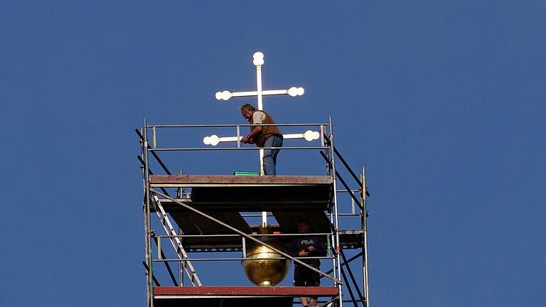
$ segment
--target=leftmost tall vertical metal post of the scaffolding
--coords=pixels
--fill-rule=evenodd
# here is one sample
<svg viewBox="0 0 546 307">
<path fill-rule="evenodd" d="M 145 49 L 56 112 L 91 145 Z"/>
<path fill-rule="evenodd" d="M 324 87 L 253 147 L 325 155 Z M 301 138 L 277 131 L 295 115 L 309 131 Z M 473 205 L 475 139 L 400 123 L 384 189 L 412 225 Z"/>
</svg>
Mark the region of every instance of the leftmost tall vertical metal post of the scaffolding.
<svg viewBox="0 0 546 307">
<path fill-rule="evenodd" d="M 154 307 L 154 299 L 152 295 L 154 293 L 154 279 L 153 276 L 153 262 L 151 257 L 151 225 L 150 225 L 150 177 L 149 177 L 149 160 L 148 160 L 148 127 L 146 124 L 146 118 L 144 118 L 143 126 L 143 135 L 144 142 L 142 144 L 143 154 L 144 154 L 144 232 L 146 234 L 146 264 L 148 265 L 147 272 L 147 287 L 146 287 L 146 298 L 148 299 L 148 306 Z"/>
</svg>

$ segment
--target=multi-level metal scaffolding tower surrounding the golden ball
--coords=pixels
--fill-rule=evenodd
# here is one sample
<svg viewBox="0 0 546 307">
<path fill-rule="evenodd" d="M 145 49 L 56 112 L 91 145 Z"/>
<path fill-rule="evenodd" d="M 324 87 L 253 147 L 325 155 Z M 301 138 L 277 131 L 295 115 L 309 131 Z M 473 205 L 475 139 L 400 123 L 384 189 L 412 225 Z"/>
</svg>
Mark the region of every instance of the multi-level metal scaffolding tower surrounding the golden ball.
<svg viewBox="0 0 546 307">
<path fill-rule="evenodd" d="M 325 161 L 324 176 L 173 175 L 159 157 L 162 151 L 218 151 L 220 155 L 222 151 L 257 151 L 258 148 L 241 147 L 240 130 L 248 126 L 250 125 L 150 125 L 144 119 L 142 128 L 136 129 L 141 145 L 138 159 L 142 168 L 144 191 L 143 264 L 146 273 L 146 306 L 229 307 L 259 304 L 262 307 L 288 307 L 292 303 L 299 303 L 294 301 L 296 296 L 319 296 L 321 306 L 342 307 L 343 303 L 352 303 L 354 307 L 369 307 L 366 222 L 366 198 L 369 194 L 365 168 L 357 176 L 334 146 L 331 119 L 327 123 L 277 124 L 310 126 L 320 131 L 320 136 L 315 141 L 318 144 L 285 144 L 282 151 L 306 150 L 319 154 Z M 208 148 L 158 145 L 159 135 L 165 129 L 210 127 L 235 129 L 236 146 Z M 159 166 L 161 173 L 154 173 L 151 170 L 154 166 Z M 349 176 L 348 180 L 343 178 L 346 174 Z M 244 197 L 238 196 L 242 194 Z M 348 202 L 342 202 L 341 199 Z M 248 222 L 252 217 L 262 216 L 257 212 L 267 212 L 269 217 L 277 220 L 279 225 L 270 225 L 272 234 L 258 234 L 257 225 Z M 153 215 L 157 217 L 155 222 L 152 222 Z M 323 264 L 331 264 L 322 266 L 331 267 L 329 270 L 309 266 L 301 261 L 301 257 L 292 257 L 284 249 L 264 242 L 267 240 L 262 241 L 264 237 L 274 237 L 286 247 L 291 239 L 299 235 L 293 230 L 302 215 L 313 221 L 310 235 L 324 237 L 328 242 L 328 255 L 316 258 L 326 260 Z M 194 264 L 226 262 L 237 265 L 243 260 L 256 260 L 257 258 L 247 257 L 248 242 L 262 244 L 277 252 L 279 259 L 289 259 L 318 272 L 321 278 L 330 281 L 328 284 L 331 283 L 331 286 L 205 286 L 206 280 L 200 279 Z M 165 249 L 165 243 L 172 249 Z M 240 257 L 218 257 L 217 253 L 222 252 L 237 252 Z M 217 256 L 190 257 L 192 253 Z M 360 264 L 353 262 L 357 259 L 360 259 Z M 173 266 L 176 264 L 177 268 Z M 160 280 L 161 277 L 154 274 L 160 268 L 168 273 L 166 280 Z"/>
</svg>

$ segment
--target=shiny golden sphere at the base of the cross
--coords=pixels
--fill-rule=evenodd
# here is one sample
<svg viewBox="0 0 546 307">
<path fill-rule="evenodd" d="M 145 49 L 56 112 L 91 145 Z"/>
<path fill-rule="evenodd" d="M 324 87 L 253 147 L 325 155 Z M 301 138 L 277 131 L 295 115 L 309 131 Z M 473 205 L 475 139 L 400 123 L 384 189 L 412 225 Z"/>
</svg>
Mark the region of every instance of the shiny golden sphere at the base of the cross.
<svg viewBox="0 0 546 307">
<path fill-rule="evenodd" d="M 262 237 L 260 240 L 276 249 L 284 251 L 284 246 L 277 239 Z M 257 242 L 252 242 L 247 246 L 247 258 L 279 257 L 282 257 L 282 255 Z M 279 284 L 284 279 L 284 276 L 287 276 L 290 269 L 290 260 L 288 259 L 243 260 L 241 264 L 248 279 L 257 286 L 274 286 Z"/>
</svg>

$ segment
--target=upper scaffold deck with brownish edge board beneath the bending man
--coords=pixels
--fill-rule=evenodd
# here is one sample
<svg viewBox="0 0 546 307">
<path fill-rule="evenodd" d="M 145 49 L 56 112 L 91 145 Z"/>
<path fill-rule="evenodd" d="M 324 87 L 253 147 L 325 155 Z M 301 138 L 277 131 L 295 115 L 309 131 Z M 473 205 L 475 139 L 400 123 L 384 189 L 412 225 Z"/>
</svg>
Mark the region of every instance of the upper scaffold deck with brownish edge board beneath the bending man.
<svg viewBox="0 0 546 307">
<path fill-rule="evenodd" d="M 222 211 L 325 211 L 331 205 L 330 176 L 152 175 L 151 188 L 191 188 L 179 201 Z M 182 210 L 163 202 L 166 210 Z"/>
</svg>

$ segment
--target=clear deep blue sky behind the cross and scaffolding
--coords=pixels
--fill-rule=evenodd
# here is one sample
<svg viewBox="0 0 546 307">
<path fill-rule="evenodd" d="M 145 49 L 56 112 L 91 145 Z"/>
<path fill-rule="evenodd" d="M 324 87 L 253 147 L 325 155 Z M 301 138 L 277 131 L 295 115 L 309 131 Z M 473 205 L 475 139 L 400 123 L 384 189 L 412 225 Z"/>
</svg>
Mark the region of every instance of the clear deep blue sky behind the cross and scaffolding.
<svg viewBox="0 0 546 307">
<path fill-rule="evenodd" d="M 1 1 L 0 305 L 144 306 L 134 129 L 244 124 L 214 93 L 261 50 L 264 88 L 306 89 L 277 122 L 331 115 L 367 168 L 372 306 L 546 306 L 545 33 L 544 1 Z"/>
</svg>

